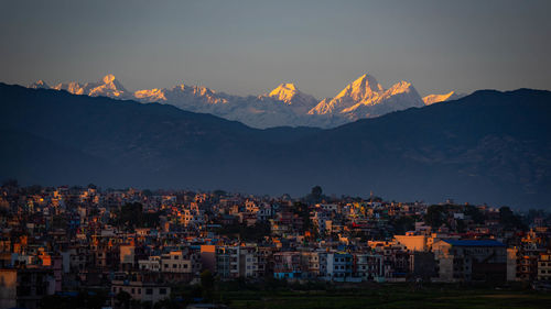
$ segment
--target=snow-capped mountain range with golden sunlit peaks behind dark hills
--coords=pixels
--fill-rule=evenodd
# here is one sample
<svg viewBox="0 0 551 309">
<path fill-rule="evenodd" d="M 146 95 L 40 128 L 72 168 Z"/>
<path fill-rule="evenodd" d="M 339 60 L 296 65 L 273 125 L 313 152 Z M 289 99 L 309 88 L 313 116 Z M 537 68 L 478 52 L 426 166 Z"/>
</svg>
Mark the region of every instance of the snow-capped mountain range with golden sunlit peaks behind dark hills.
<svg viewBox="0 0 551 309">
<path fill-rule="evenodd" d="M 29 88 L 48 89 L 50 86 L 39 80 Z M 268 93 L 247 97 L 184 84 L 170 89 L 129 91 L 114 75 L 107 75 L 95 82 L 62 82 L 51 89 L 65 90 L 73 95 L 131 99 L 144 103 L 168 103 L 187 111 L 237 120 L 259 129 L 284 125 L 335 128 L 363 118 L 461 98 L 453 91 L 421 98 L 411 82 L 407 81 L 385 89 L 375 77 L 367 74 L 347 85 L 334 98 L 321 101 L 290 82 L 281 84 Z"/>
</svg>

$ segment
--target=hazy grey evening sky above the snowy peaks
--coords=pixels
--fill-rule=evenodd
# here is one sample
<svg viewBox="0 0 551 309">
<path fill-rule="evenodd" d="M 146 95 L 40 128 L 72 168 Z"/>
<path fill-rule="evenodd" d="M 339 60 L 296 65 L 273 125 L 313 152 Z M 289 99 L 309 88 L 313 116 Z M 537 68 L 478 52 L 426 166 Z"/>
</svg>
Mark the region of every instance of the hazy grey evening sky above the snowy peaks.
<svg viewBox="0 0 551 309">
<path fill-rule="evenodd" d="M 551 89 L 551 1 L 0 1 L 0 81 L 334 97 L 367 73 L 421 95 Z"/>
</svg>

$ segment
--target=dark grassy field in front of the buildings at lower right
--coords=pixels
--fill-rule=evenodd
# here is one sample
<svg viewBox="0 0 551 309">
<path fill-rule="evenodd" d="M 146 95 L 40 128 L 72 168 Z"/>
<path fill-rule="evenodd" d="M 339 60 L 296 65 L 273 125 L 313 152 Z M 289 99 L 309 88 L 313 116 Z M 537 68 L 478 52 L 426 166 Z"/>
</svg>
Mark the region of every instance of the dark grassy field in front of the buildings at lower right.
<svg viewBox="0 0 551 309">
<path fill-rule="evenodd" d="M 230 308 L 551 308 L 551 294 L 520 286 L 357 285 L 328 290 L 227 291 Z"/>
</svg>

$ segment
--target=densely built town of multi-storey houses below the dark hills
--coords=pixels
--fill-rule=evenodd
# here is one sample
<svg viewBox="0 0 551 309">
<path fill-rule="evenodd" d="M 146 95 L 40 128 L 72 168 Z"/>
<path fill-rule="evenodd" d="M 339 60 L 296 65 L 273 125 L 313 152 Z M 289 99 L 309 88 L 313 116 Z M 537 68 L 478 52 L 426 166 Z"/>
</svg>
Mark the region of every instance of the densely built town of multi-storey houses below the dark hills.
<svg viewBox="0 0 551 309">
<path fill-rule="evenodd" d="M 547 290 L 550 227 L 543 210 L 337 198 L 318 186 L 291 198 L 8 180 L 0 308 L 64 308 L 77 298 L 87 308 L 231 307 L 222 283 L 520 282 Z"/>
</svg>

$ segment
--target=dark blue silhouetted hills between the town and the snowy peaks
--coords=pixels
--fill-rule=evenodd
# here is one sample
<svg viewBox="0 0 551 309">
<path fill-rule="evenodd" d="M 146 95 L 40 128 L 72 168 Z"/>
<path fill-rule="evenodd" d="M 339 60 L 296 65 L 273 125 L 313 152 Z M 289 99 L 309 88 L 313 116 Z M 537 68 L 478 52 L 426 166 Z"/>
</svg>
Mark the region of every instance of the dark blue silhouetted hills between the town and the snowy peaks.
<svg viewBox="0 0 551 309">
<path fill-rule="evenodd" d="M 332 130 L 0 85 L 0 177 L 547 207 L 551 92 L 477 91 Z"/>
</svg>

